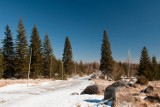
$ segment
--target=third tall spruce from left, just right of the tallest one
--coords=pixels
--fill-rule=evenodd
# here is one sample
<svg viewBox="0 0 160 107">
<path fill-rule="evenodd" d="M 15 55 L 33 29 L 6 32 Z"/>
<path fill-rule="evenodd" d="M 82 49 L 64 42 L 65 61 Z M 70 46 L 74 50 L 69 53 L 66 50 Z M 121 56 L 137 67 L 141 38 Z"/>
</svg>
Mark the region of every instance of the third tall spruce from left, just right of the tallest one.
<svg viewBox="0 0 160 107">
<path fill-rule="evenodd" d="M 31 55 L 31 77 L 38 78 L 42 75 L 42 45 L 37 27 L 34 26 L 30 44 Z"/>
</svg>

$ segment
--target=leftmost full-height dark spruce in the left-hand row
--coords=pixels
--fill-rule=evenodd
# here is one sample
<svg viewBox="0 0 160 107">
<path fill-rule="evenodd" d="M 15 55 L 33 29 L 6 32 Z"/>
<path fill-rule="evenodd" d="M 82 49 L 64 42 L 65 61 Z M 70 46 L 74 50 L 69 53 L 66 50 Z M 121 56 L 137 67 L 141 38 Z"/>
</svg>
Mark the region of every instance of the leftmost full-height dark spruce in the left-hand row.
<svg viewBox="0 0 160 107">
<path fill-rule="evenodd" d="M 14 77 L 14 43 L 9 25 L 5 28 L 5 38 L 2 41 L 2 54 L 3 54 L 3 77 Z"/>
</svg>

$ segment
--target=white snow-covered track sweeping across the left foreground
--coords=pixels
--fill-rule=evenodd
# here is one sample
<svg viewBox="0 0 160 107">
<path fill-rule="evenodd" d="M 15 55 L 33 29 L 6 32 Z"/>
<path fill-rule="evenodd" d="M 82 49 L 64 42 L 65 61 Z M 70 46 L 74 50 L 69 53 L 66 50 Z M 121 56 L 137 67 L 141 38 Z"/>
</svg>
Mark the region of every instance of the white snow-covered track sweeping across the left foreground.
<svg viewBox="0 0 160 107">
<path fill-rule="evenodd" d="M 80 94 L 90 84 L 93 82 L 88 77 L 82 77 L 28 87 L 26 84 L 8 85 L 0 88 L 0 107 L 101 107 L 101 95 L 71 95 Z"/>
</svg>

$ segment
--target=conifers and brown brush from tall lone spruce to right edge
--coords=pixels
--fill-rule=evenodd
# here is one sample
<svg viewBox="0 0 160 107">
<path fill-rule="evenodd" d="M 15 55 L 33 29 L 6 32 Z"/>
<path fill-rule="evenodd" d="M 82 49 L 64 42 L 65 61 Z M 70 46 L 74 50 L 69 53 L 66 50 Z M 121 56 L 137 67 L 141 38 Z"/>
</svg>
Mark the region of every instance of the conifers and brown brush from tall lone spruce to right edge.
<svg viewBox="0 0 160 107">
<path fill-rule="evenodd" d="M 108 33 L 104 31 L 102 46 L 100 70 L 107 78 L 120 79 L 122 75 L 127 75 L 128 64 L 116 62 L 112 58 L 112 51 Z M 145 84 L 147 81 L 160 80 L 160 63 L 157 62 L 156 56 L 150 58 L 147 48 L 144 46 L 141 51 L 139 64 L 131 64 L 132 74 L 137 76 L 138 82 Z"/>
</svg>

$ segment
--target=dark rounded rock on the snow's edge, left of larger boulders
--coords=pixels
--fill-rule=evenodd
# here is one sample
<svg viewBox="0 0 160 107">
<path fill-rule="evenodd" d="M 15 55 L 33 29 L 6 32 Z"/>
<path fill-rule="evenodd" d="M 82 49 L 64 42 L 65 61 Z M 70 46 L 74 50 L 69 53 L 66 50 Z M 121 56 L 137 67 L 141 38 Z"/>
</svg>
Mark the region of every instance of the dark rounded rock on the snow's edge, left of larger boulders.
<svg viewBox="0 0 160 107">
<path fill-rule="evenodd" d="M 81 94 L 98 94 L 98 86 L 97 85 L 90 85 L 87 88 L 84 89 Z"/>
</svg>

